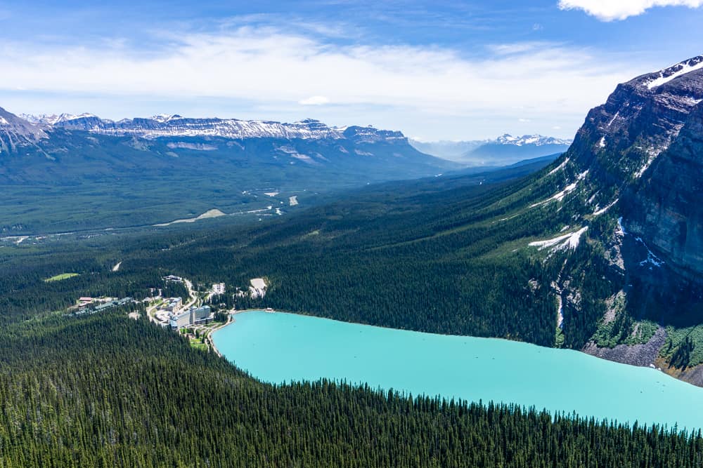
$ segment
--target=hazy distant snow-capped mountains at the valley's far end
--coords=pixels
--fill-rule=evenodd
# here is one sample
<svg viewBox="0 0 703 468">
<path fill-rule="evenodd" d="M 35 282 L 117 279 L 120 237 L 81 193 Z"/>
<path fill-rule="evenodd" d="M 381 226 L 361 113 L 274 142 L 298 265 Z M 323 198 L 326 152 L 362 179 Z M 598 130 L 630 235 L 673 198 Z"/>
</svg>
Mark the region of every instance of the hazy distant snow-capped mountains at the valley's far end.
<svg viewBox="0 0 703 468">
<path fill-rule="evenodd" d="M 423 153 L 467 166 L 505 166 L 524 159 L 563 153 L 573 140 L 543 135 L 512 136 L 505 133 L 494 140 L 409 141 Z"/>
</svg>

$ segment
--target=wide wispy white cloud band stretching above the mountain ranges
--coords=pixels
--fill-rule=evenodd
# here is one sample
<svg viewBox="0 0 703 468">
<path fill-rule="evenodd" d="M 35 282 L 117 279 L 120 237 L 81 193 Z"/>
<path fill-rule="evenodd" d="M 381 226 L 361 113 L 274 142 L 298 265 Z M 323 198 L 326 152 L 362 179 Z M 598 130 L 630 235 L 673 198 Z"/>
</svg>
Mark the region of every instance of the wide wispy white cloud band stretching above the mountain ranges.
<svg viewBox="0 0 703 468">
<path fill-rule="evenodd" d="M 369 121 L 394 128 L 410 114 L 416 121 L 508 120 L 521 109 L 534 125 L 560 119 L 575 128 L 633 69 L 622 57 L 609 63 L 602 53 L 548 42 L 487 51 L 474 58 L 436 46 L 335 46 L 252 27 L 174 36 L 169 47 L 149 54 L 108 42 L 73 48 L 6 43 L 0 46 L 0 90 L 38 92 L 47 105 L 47 95 L 67 93 L 116 105 L 125 97 L 246 100 L 269 109 L 334 103 L 328 112 L 336 114 L 321 115 L 348 123 L 364 109 Z"/>
</svg>

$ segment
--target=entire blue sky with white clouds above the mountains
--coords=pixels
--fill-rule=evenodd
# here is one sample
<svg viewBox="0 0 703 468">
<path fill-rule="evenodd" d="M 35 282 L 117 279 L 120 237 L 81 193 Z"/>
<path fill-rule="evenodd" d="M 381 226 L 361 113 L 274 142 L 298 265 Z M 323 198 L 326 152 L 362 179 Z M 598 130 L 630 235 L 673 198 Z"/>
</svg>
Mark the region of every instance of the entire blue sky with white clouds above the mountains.
<svg viewBox="0 0 703 468">
<path fill-rule="evenodd" d="M 617 83 L 703 53 L 699 0 L 57 3 L 0 0 L 11 112 L 571 137 Z"/>
</svg>

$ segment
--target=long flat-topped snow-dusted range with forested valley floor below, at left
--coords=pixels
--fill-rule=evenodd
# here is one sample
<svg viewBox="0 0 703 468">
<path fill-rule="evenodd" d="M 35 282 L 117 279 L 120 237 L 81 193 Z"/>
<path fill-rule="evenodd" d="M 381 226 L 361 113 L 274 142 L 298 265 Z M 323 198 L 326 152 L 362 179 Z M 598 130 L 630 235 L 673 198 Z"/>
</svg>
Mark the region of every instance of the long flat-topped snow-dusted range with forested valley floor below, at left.
<svg viewBox="0 0 703 468">
<path fill-rule="evenodd" d="M 155 224 L 212 208 L 278 215 L 291 196 L 315 203 L 323 192 L 460 167 L 400 132 L 314 120 L 63 114 L 31 123 L 1 112 L 0 232 L 14 234 Z"/>
</svg>

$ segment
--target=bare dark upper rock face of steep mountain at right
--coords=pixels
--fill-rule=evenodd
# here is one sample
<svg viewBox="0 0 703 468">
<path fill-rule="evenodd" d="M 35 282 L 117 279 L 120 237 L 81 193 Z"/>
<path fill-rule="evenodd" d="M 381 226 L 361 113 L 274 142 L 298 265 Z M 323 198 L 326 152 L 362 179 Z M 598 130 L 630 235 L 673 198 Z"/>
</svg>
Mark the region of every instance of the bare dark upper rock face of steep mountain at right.
<svg viewBox="0 0 703 468">
<path fill-rule="evenodd" d="M 618 85 L 567 158 L 566 174 L 588 171 L 584 214 L 620 201 L 621 225 L 647 255 L 703 282 L 703 56 Z"/>
</svg>

